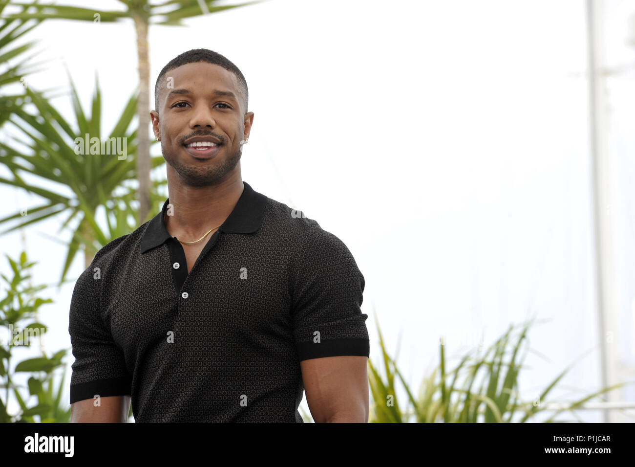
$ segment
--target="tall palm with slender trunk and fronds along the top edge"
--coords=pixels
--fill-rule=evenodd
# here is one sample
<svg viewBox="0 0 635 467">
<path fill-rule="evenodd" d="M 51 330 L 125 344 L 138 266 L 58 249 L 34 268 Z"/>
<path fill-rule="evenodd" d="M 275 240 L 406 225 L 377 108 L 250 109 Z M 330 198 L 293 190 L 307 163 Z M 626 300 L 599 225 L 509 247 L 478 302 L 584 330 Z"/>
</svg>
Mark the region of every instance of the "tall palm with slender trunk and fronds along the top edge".
<svg viewBox="0 0 635 467">
<path fill-rule="evenodd" d="M 260 3 L 262 0 L 250 1 L 235 5 L 218 6 L 218 0 L 164 0 L 158 3 L 150 0 L 119 0 L 126 7 L 121 11 L 94 10 L 76 6 L 60 6 L 53 4 L 29 5 L 35 8 L 34 13 L 16 13 L 8 18 L 31 19 L 67 19 L 90 22 L 114 22 L 124 18 L 133 20 L 137 32 L 137 56 L 139 95 L 137 100 L 138 148 L 137 174 L 139 180 L 140 219 L 147 219 L 150 212 L 150 93 L 149 93 L 149 49 L 148 27 L 150 24 L 182 26 L 181 20 L 197 17 L 202 14 L 217 13 L 239 6 Z M 13 4 L 27 6 L 16 1 L 0 0 L 0 5 Z M 97 16 L 98 15 L 98 16 Z"/>
</svg>

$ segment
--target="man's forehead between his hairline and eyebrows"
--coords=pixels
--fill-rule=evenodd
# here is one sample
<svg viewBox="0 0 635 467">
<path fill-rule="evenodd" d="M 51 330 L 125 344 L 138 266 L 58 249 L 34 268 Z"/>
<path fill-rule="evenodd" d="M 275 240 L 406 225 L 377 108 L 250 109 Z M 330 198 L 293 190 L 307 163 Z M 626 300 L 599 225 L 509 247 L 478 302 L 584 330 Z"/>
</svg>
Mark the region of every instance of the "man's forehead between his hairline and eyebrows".
<svg viewBox="0 0 635 467">
<path fill-rule="evenodd" d="M 164 75 L 165 85 L 161 90 L 163 96 L 167 94 L 168 79 L 173 79 L 174 89 L 190 88 L 195 93 L 207 90 L 218 89 L 234 92 L 239 98 L 244 98 L 243 92 L 238 85 L 237 76 L 231 71 L 225 70 L 220 65 L 208 62 L 196 62 L 181 65 L 172 69 Z"/>
</svg>

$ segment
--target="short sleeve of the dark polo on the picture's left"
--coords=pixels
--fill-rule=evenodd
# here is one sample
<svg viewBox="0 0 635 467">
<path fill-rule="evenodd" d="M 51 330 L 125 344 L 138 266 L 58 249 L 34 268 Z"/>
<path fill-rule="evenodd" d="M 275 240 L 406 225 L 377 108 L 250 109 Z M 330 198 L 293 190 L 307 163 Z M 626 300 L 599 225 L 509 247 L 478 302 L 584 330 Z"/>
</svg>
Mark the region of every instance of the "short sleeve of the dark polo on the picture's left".
<svg viewBox="0 0 635 467">
<path fill-rule="evenodd" d="M 77 279 L 70 301 L 69 334 L 75 362 L 71 365 L 70 403 L 93 396 L 131 393 L 123 352 L 102 318 L 100 275 L 91 264 Z"/>
</svg>

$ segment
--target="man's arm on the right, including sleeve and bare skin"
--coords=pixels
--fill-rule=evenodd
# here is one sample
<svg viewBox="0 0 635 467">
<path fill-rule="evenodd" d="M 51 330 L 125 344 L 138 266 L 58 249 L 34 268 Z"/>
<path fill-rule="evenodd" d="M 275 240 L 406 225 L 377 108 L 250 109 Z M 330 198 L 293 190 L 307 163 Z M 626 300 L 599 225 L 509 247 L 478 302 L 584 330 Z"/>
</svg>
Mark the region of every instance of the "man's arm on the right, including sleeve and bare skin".
<svg viewBox="0 0 635 467">
<path fill-rule="evenodd" d="M 293 332 L 316 423 L 368 423 L 368 315 L 351 251 L 311 219 L 291 287 Z"/>
</svg>

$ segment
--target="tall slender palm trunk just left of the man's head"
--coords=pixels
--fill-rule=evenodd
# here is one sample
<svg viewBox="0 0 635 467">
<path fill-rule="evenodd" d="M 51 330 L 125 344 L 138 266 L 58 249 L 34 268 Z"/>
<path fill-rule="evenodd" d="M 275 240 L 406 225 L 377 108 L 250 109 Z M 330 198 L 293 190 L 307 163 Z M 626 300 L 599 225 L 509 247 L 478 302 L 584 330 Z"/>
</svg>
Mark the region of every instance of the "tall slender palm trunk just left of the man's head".
<svg viewBox="0 0 635 467">
<path fill-rule="evenodd" d="M 148 58 L 148 18 L 134 15 L 137 31 L 137 55 L 139 60 L 139 98 L 137 100 L 137 177 L 139 180 L 139 225 L 145 222 L 150 212 L 150 63 Z"/>
</svg>

